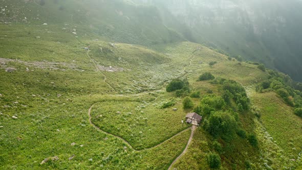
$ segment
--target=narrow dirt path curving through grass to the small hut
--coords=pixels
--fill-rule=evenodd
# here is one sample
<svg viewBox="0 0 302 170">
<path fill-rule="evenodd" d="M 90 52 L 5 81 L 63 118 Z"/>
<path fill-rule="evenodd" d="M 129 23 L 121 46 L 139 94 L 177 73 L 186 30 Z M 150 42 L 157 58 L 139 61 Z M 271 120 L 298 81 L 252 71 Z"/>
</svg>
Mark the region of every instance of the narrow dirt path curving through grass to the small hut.
<svg viewBox="0 0 302 170">
<path fill-rule="evenodd" d="M 93 125 L 94 128 L 97 129 L 98 131 L 101 131 L 101 132 L 103 132 L 103 133 L 105 133 L 105 134 L 107 134 L 107 135 L 111 135 L 111 136 L 114 136 L 114 137 L 116 137 L 116 138 L 122 140 L 124 143 L 126 143 L 130 148 L 132 148 L 132 149 L 133 149 L 134 151 L 136 151 L 136 152 L 145 151 L 145 150 L 150 150 L 150 149 L 152 149 L 152 148 L 158 147 L 159 145 L 161 145 L 161 144 L 165 143 L 166 141 L 170 140 L 171 138 L 174 138 L 174 137 L 180 135 L 181 133 L 183 133 L 183 132 L 185 132 L 185 131 L 188 131 L 189 129 L 192 129 L 192 132 L 193 132 L 193 129 L 194 129 L 194 128 L 192 128 L 192 127 L 187 128 L 187 129 L 185 129 L 185 130 L 183 130 L 183 131 L 181 131 L 181 132 L 175 134 L 174 136 L 171 136 L 169 139 L 166 139 L 165 141 L 163 141 L 163 142 L 161 142 L 161 143 L 159 143 L 159 144 L 157 144 L 157 145 L 155 145 L 155 146 L 148 147 L 148 148 L 144 148 L 144 149 L 142 149 L 142 150 L 136 150 L 136 149 L 135 149 L 128 141 L 126 141 L 125 139 L 123 139 L 123 138 L 121 138 L 121 137 L 119 137 L 119 136 L 117 136 L 117 135 L 114 135 L 114 134 L 112 134 L 112 133 L 105 132 L 105 131 L 101 130 L 97 125 L 95 125 L 95 124 L 91 121 L 91 110 L 92 110 L 93 106 L 94 106 L 94 104 L 93 104 L 93 105 L 89 108 L 89 110 L 88 110 L 88 116 L 89 116 L 89 122 L 90 122 L 90 124 Z M 191 132 L 190 138 L 192 137 L 192 132 Z M 192 140 L 192 139 L 190 139 L 190 138 L 189 138 L 189 141 Z M 189 142 L 188 142 L 188 143 L 189 143 Z M 188 144 L 187 144 L 187 145 L 188 145 Z M 186 148 L 187 148 L 187 146 L 186 146 Z"/>
</svg>

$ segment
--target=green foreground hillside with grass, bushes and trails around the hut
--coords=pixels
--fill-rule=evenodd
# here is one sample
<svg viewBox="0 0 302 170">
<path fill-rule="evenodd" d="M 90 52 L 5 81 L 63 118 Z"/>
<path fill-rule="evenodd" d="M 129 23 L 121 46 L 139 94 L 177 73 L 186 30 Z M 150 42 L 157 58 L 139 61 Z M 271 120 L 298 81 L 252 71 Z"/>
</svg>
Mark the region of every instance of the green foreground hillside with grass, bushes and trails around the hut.
<svg viewBox="0 0 302 170">
<path fill-rule="evenodd" d="M 302 166 L 289 76 L 184 41 L 131 1 L 3 2 L 0 169 Z"/>
</svg>

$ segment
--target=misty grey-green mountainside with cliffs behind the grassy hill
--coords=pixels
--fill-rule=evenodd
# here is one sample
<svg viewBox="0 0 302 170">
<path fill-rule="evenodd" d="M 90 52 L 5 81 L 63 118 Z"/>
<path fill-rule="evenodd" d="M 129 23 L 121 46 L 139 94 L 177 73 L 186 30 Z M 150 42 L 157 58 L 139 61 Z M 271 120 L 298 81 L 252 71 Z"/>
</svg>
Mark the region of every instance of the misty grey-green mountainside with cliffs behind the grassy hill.
<svg viewBox="0 0 302 170">
<path fill-rule="evenodd" d="M 193 39 L 187 38 L 192 41 L 264 62 L 296 80 L 302 79 L 298 76 L 302 71 L 299 68 L 302 51 L 298 47 L 302 38 L 299 31 L 302 29 L 301 1 L 154 0 L 141 3 L 170 11 L 179 23 L 189 28 Z"/>
</svg>

